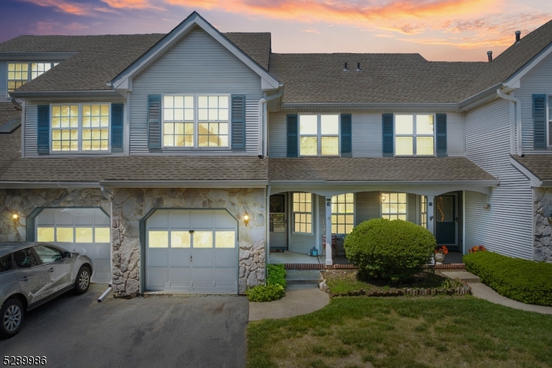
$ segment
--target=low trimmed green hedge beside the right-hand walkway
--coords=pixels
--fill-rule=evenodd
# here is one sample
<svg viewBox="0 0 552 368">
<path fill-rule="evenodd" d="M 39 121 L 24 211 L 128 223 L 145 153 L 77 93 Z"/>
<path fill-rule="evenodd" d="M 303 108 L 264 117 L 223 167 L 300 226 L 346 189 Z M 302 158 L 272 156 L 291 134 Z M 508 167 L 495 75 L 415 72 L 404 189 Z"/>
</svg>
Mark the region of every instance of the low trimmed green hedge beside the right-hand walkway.
<svg viewBox="0 0 552 368">
<path fill-rule="evenodd" d="M 518 302 L 552 305 L 552 264 L 511 258 L 493 252 L 464 255 L 466 271 L 501 296 Z"/>
</svg>

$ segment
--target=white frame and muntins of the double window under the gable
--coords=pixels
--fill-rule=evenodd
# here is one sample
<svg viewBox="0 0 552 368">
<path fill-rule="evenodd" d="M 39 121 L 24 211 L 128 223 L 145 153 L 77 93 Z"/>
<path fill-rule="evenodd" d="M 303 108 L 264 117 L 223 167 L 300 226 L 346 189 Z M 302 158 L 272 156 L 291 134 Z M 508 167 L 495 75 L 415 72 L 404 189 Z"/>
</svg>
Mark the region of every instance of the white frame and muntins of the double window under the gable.
<svg viewBox="0 0 552 368">
<path fill-rule="evenodd" d="M 192 146 L 165 146 L 165 96 L 193 96 L 194 97 L 194 144 Z M 199 106 L 197 103 L 199 96 L 226 96 L 228 97 L 228 146 L 217 147 L 217 146 L 199 146 Z M 173 121 L 171 121 L 173 122 Z M 210 122 L 209 120 L 203 121 L 201 123 Z M 224 121 L 217 121 L 218 123 L 224 123 Z M 190 123 L 190 122 L 188 122 Z M 232 149 L 232 95 L 230 93 L 166 93 L 161 95 L 161 149 L 163 150 L 190 150 L 190 149 L 215 149 L 215 150 L 229 150 Z"/>
</svg>

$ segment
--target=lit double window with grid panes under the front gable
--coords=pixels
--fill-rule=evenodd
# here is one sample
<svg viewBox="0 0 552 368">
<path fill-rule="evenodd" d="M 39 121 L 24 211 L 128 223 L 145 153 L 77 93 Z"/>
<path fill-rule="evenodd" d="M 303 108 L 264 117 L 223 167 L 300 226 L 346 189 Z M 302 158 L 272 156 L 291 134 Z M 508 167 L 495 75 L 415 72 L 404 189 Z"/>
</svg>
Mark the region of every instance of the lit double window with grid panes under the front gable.
<svg viewBox="0 0 552 368">
<path fill-rule="evenodd" d="M 228 95 L 165 95 L 164 147 L 228 147 Z"/>
</svg>

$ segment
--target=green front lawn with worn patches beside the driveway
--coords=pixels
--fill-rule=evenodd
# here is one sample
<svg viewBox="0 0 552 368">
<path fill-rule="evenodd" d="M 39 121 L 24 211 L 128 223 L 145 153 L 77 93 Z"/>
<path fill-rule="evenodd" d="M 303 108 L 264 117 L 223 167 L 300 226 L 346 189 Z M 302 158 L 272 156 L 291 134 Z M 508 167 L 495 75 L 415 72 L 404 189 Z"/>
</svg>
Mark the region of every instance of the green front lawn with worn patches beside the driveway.
<svg viewBox="0 0 552 368">
<path fill-rule="evenodd" d="M 250 322 L 248 368 L 552 367 L 552 316 L 468 297 L 332 298 Z"/>
</svg>

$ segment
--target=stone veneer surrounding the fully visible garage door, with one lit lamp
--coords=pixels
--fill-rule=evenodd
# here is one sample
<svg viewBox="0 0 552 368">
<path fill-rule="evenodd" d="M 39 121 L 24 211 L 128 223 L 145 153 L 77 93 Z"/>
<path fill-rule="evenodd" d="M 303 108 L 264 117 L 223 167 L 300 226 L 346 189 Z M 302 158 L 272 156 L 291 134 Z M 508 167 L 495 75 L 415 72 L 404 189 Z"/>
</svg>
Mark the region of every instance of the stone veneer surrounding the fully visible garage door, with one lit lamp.
<svg viewBox="0 0 552 368">
<path fill-rule="evenodd" d="M 139 222 L 151 209 L 227 209 L 239 220 L 239 293 L 264 283 L 264 188 L 113 188 L 113 292 L 134 296 L 140 285 Z M 250 221 L 245 226 L 244 213 Z"/>
</svg>

